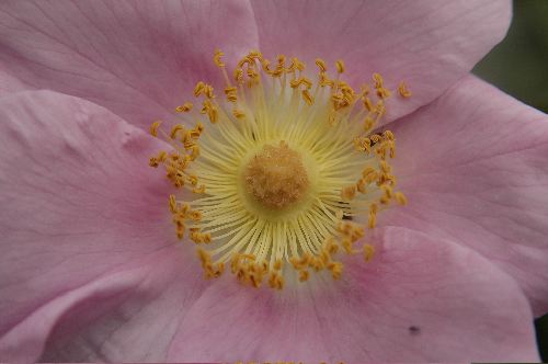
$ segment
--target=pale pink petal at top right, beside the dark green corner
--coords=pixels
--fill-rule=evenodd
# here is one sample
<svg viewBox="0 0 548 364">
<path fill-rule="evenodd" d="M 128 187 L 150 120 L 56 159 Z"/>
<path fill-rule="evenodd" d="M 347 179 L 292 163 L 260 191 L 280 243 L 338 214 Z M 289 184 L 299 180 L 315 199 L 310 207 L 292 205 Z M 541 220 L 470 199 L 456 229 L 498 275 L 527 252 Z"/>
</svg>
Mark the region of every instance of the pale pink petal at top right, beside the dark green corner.
<svg viewBox="0 0 548 364">
<path fill-rule="evenodd" d="M 422 106 L 466 75 L 507 30 L 510 1 L 252 1 L 261 49 L 346 62 L 354 86 L 373 72 L 414 96 L 389 100 L 387 120 Z M 334 71 L 334 66 L 331 66 Z"/>
</svg>

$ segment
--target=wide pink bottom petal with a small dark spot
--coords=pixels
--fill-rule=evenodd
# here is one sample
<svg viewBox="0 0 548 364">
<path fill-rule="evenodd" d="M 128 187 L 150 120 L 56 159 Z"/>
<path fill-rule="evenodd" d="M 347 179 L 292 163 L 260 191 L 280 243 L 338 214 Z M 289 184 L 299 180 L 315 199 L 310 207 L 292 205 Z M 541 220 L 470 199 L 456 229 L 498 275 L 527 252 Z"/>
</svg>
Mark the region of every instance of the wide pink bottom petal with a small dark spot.
<svg viewBox="0 0 548 364">
<path fill-rule="evenodd" d="M 538 361 L 515 282 L 480 254 L 402 228 L 369 264 L 283 292 L 217 282 L 191 308 L 170 361 Z M 503 304 L 501 304 L 503 303 Z"/>
</svg>

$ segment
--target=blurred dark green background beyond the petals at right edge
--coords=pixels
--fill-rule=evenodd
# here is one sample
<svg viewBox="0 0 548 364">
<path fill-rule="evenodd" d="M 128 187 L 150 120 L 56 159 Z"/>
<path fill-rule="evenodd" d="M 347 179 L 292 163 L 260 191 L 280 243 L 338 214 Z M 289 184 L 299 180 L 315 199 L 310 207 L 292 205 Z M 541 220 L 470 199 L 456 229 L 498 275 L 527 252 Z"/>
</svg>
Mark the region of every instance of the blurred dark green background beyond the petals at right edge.
<svg viewBox="0 0 548 364">
<path fill-rule="evenodd" d="M 514 0 L 514 19 L 506 38 L 473 72 L 548 113 L 548 0 Z M 535 327 L 543 362 L 548 362 L 548 315 L 537 319 Z"/>
</svg>

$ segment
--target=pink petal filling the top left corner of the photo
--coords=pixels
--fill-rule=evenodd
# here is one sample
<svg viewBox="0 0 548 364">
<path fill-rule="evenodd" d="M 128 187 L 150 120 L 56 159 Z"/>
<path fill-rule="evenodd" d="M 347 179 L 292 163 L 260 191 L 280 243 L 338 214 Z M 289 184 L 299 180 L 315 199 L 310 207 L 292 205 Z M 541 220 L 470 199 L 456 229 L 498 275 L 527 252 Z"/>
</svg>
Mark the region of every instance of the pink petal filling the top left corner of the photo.
<svg viewBox="0 0 548 364">
<path fill-rule="evenodd" d="M 239 1 L 2 1 L 0 24 L 0 70 L 20 90 L 81 96 L 146 128 L 173 118 L 197 81 L 221 79 L 215 48 L 256 47 Z"/>
</svg>

